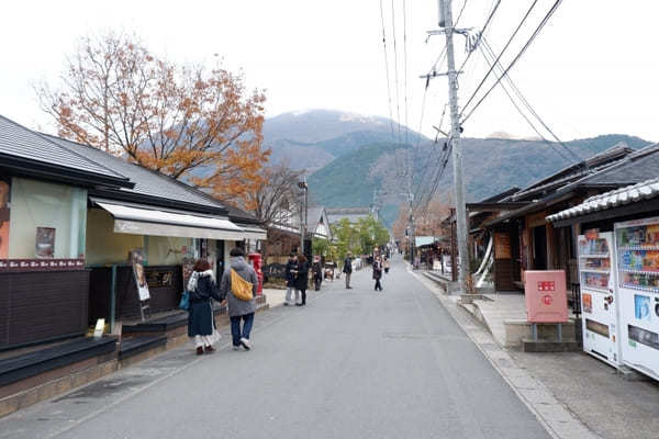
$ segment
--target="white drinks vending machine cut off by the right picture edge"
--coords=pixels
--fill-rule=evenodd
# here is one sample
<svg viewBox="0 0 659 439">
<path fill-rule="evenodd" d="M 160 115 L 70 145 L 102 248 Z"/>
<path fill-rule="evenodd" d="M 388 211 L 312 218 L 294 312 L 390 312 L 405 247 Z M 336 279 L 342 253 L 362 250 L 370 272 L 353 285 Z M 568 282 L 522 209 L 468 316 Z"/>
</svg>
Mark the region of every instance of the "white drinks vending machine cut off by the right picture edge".
<svg viewBox="0 0 659 439">
<path fill-rule="evenodd" d="M 659 217 L 615 225 L 623 362 L 659 380 Z"/>
</svg>

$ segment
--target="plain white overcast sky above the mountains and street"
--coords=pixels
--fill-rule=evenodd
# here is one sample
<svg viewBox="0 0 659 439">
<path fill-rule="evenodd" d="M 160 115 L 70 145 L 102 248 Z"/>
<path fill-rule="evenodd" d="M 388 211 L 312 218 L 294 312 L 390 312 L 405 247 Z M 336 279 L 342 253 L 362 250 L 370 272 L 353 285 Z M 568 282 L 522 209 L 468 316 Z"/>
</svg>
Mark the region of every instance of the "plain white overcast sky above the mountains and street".
<svg viewBox="0 0 659 439">
<path fill-rule="evenodd" d="M 454 16 L 465 7 L 458 27 L 481 29 L 494 2 L 454 0 Z M 532 2 L 502 1 L 485 34 L 495 53 Z M 538 0 L 502 55 L 504 66 L 554 2 Z M 110 30 L 135 32 L 154 53 L 181 64 L 213 64 L 222 58 L 230 70 L 244 71 L 250 88 L 266 90 L 267 116 L 308 109 L 391 114 L 428 136 L 433 125 L 448 124 L 447 116 L 442 120 L 447 80 L 432 81 L 423 105 L 425 80 L 418 78 L 431 69 L 445 43 L 444 36 L 426 42 L 426 31 L 436 29 L 436 0 L 393 0 L 393 8 L 391 0 L 23 0 L 3 4 L 3 16 L 0 114 L 33 128 L 53 131 L 33 85 L 45 80 L 56 86 L 78 38 Z M 617 133 L 659 140 L 657 16 L 657 1 L 565 0 L 510 76 L 560 139 Z M 458 65 L 465 56 L 465 40 L 457 35 Z M 487 70 L 482 55 L 474 52 L 460 75 L 460 105 Z M 443 71 L 446 64 L 437 67 L 437 72 Z M 492 78 L 487 79 L 476 100 L 492 83 Z M 501 87 L 463 130 L 469 137 L 494 132 L 536 135 Z"/>
</svg>

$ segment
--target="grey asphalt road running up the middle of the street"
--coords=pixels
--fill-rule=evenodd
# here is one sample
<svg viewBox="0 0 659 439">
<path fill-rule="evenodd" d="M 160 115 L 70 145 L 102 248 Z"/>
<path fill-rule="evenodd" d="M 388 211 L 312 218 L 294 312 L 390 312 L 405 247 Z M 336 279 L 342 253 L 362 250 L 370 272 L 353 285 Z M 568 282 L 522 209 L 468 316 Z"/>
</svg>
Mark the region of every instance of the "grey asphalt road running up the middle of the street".
<svg viewBox="0 0 659 439">
<path fill-rule="evenodd" d="M 549 438 L 402 262 L 257 315 L 254 350 L 175 349 L 0 420 L 0 438 Z M 223 340 L 225 344 L 227 338 Z"/>
</svg>

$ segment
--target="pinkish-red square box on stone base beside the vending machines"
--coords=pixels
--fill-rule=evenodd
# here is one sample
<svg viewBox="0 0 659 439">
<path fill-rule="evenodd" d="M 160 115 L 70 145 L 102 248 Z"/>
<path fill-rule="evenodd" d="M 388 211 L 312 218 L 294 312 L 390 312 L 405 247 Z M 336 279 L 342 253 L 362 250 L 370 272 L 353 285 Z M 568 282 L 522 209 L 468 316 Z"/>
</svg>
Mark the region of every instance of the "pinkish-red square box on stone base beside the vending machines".
<svg viewBox="0 0 659 439">
<path fill-rule="evenodd" d="M 526 271 L 524 294 L 528 322 L 568 322 L 568 296 L 563 270 Z"/>
</svg>

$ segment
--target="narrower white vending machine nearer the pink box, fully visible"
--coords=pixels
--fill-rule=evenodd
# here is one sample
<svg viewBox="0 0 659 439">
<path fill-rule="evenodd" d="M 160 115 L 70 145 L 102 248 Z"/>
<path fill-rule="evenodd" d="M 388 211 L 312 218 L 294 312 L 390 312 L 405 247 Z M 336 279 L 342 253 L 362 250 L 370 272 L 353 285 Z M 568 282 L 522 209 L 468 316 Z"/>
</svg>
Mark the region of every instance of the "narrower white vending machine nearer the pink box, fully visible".
<svg viewBox="0 0 659 439">
<path fill-rule="evenodd" d="M 613 233 L 589 230 L 578 238 L 583 350 L 619 364 Z"/>
</svg>

